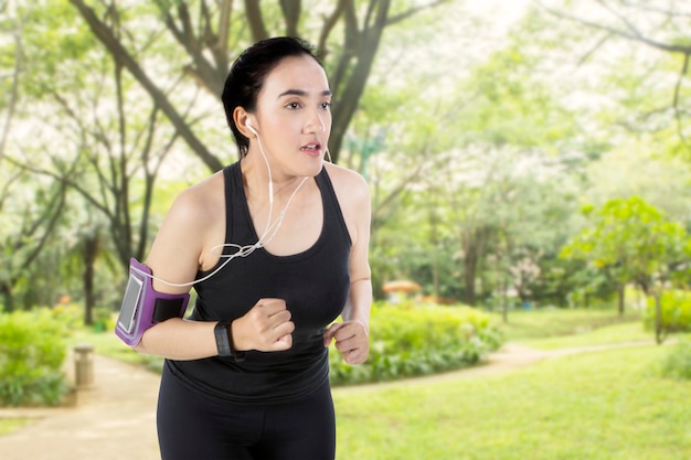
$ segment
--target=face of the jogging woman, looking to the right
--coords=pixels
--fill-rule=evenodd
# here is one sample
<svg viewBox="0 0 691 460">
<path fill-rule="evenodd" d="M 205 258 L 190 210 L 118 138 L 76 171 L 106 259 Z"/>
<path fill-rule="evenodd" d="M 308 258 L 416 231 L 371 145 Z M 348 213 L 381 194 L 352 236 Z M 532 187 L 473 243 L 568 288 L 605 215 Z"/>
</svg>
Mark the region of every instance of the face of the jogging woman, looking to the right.
<svg viewBox="0 0 691 460">
<path fill-rule="evenodd" d="M 252 125 L 268 161 L 279 168 L 276 173 L 313 176 L 321 171 L 331 132 L 330 104 L 327 75 L 309 55 L 286 57 L 266 75 Z"/>
</svg>

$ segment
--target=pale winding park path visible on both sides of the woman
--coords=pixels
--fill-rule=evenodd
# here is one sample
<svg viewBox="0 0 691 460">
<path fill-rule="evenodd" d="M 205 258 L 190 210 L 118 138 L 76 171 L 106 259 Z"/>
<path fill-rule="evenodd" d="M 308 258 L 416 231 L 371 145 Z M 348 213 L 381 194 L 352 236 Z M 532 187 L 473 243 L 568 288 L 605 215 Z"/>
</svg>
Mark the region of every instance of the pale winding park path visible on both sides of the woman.
<svg viewBox="0 0 691 460">
<path fill-rule="evenodd" d="M 396 385 L 470 378 L 509 372 L 538 361 L 613 347 L 650 345 L 651 341 L 540 351 L 515 344 L 490 355 L 481 366 L 375 385 L 340 387 L 359 392 Z M 159 376 L 139 366 L 94 356 L 94 383 L 77 393 L 74 407 L 0 409 L 0 418 L 35 421 L 0 437 L 2 460 L 160 460 L 156 435 Z"/>
</svg>

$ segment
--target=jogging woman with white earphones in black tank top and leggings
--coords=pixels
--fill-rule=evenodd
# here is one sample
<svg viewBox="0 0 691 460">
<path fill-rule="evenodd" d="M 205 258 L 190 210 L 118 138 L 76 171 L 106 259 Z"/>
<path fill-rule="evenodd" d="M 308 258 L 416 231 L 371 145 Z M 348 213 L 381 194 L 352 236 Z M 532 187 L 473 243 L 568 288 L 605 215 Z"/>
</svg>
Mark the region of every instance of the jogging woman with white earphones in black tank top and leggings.
<svg viewBox="0 0 691 460">
<path fill-rule="evenodd" d="M 325 163 L 331 92 L 301 40 L 243 52 L 222 99 L 241 160 L 176 199 L 147 259 L 157 291 L 198 292 L 137 345 L 167 359 L 161 454 L 332 459 L 328 346 L 369 352 L 369 190 Z"/>
</svg>

